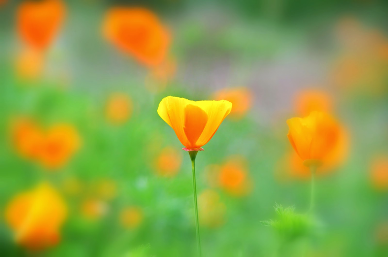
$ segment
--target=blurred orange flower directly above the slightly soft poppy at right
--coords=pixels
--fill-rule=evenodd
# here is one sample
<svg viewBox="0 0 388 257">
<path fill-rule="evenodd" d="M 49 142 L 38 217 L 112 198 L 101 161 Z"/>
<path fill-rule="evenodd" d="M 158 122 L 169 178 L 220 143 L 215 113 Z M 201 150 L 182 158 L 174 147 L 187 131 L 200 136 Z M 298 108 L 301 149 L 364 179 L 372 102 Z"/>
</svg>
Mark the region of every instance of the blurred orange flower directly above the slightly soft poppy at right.
<svg viewBox="0 0 388 257">
<path fill-rule="evenodd" d="M 300 91 L 294 99 L 296 112 L 307 116 L 310 112 L 331 112 L 332 99 L 324 91 L 304 90 Z"/>
</svg>

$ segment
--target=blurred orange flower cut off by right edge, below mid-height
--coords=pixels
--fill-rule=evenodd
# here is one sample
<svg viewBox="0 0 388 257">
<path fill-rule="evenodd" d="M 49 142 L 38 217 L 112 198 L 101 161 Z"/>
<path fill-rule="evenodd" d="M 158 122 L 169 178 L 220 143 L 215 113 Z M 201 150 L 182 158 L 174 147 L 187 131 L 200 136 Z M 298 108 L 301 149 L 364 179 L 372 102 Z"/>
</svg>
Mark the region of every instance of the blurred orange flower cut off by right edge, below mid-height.
<svg viewBox="0 0 388 257">
<path fill-rule="evenodd" d="M 372 162 L 371 180 L 375 189 L 388 190 L 388 158 L 376 158 Z"/>
</svg>

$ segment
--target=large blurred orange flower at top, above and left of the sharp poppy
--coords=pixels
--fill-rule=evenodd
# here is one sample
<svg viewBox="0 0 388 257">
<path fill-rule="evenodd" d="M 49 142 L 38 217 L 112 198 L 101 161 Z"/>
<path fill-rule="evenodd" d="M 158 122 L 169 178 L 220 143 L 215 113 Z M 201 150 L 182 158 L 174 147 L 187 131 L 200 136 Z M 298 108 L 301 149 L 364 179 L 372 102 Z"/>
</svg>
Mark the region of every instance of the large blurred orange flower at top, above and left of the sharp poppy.
<svg viewBox="0 0 388 257">
<path fill-rule="evenodd" d="M 158 17 L 141 7 L 110 9 L 103 34 L 114 46 L 148 66 L 160 64 L 170 45 L 170 34 Z"/>
</svg>

